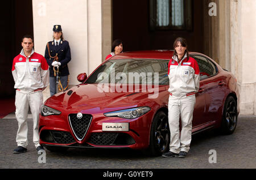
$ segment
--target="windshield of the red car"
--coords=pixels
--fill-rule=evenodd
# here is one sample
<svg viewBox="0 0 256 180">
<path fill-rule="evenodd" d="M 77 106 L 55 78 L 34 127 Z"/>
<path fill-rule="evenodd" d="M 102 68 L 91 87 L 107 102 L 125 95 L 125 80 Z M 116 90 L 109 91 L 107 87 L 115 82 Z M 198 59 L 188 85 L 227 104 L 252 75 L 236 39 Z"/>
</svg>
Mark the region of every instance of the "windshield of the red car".
<svg viewBox="0 0 256 180">
<path fill-rule="evenodd" d="M 164 59 L 112 59 L 98 67 L 85 83 L 168 85 L 168 62 Z"/>
</svg>

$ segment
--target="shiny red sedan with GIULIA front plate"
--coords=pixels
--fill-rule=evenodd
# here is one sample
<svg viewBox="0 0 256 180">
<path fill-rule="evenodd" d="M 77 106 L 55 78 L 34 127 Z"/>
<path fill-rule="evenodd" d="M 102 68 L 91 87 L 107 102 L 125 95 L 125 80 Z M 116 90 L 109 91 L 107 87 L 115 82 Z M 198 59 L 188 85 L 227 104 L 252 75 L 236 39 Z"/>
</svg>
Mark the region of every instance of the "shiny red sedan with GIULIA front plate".
<svg viewBox="0 0 256 180">
<path fill-rule="evenodd" d="M 127 52 L 103 62 L 81 84 L 42 105 L 40 144 L 49 151 L 72 148 L 168 151 L 168 62 L 172 50 Z M 239 93 L 232 73 L 204 54 L 190 54 L 200 68 L 192 134 L 218 128 L 232 134 Z"/>
</svg>

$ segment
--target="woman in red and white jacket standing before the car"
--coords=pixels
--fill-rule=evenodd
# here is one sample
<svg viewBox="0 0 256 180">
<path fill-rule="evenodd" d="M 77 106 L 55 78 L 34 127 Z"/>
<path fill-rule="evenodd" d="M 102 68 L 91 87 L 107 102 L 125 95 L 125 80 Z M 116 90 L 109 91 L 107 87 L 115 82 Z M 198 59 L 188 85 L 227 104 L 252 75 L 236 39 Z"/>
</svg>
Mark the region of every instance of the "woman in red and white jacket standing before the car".
<svg viewBox="0 0 256 180">
<path fill-rule="evenodd" d="M 184 38 L 179 37 L 175 40 L 174 49 L 174 55 L 168 65 L 170 151 L 163 153 L 162 156 L 186 157 L 191 143 L 193 110 L 196 102 L 195 94 L 199 89 L 200 71 L 196 60 L 189 57 Z"/>
</svg>

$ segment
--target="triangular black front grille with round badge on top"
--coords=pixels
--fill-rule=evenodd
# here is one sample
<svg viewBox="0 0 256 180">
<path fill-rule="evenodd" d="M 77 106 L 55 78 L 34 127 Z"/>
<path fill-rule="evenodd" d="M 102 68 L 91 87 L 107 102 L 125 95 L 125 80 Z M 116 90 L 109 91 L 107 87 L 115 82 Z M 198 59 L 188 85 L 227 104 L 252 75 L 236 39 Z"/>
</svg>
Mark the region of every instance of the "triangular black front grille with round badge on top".
<svg viewBox="0 0 256 180">
<path fill-rule="evenodd" d="M 69 123 L 71 125 L 72 131 L 78 140 L 84 139 L 86 132 L 92 121 L 92 115 L 82 114 L 82 118 L 77 118 L 77 114 L 69 114 Z"/>
</svg>

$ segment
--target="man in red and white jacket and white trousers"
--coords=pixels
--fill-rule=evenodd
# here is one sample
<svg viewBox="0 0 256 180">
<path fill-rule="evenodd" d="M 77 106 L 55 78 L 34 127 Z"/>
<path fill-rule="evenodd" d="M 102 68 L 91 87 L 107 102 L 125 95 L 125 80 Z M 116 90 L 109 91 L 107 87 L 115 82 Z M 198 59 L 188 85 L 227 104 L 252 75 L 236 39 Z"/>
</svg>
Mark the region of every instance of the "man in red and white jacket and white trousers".
<svg viewBox="0 0 256 180">
<path fill-rule="evenodd" d="M 14 88 L 16 89 L 15 106 L 16 119 L 18 121 L 18 132 L 16 143 L 18 148 L 13 153 L 23 153 L 27 151 L 27 115 L 30 106 L 33 119 L 33 142 L 36 150 L 43 147 L 39 144 L 38 119 L 40 107 L 43 104 L 42 91 L 49 84 L 49 71 L 46 59 L 34 52 L 34 42 L 32 37 L 26 35 L 22 38 L 20 54 L 13 60 L 12 73 L 14 78 Z"/>
</svg>

